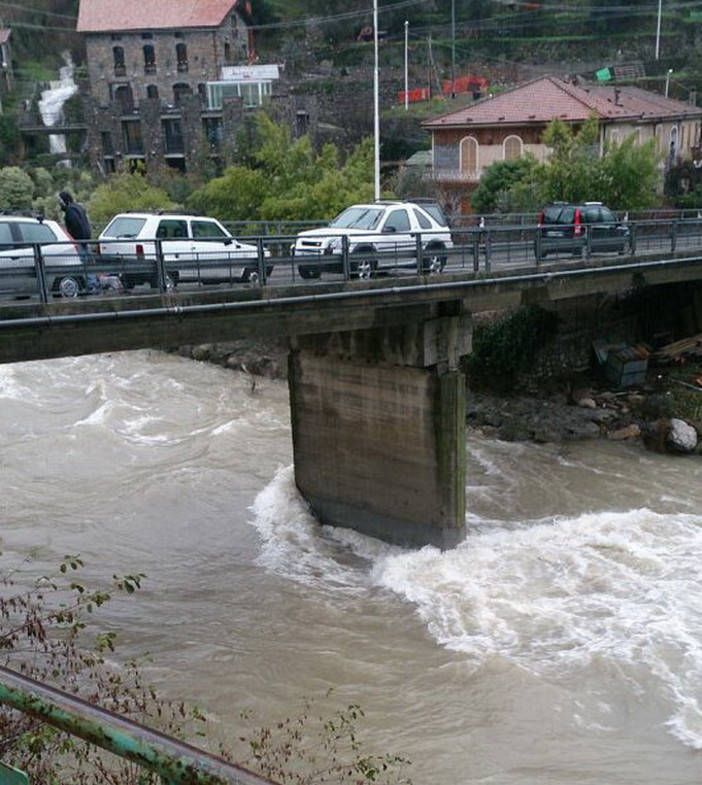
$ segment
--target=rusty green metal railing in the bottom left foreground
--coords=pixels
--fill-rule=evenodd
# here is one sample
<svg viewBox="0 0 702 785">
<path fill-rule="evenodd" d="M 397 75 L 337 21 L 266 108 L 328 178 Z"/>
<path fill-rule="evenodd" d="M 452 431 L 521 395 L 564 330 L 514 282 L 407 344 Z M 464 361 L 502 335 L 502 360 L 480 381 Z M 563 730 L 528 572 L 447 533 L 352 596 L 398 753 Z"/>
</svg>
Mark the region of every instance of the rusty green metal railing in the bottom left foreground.
<svg viewBox="0 0 702 785">
<path fill-rule="evenodd" d="M 272 780 L 259 777 L 197 747 L 2 667 L 0 703 L 133 761 L 159 775 L 164 785 L 272 783 Z M 3 775 L 0 769 L 0 785 L 9 783 L 11 780 L 6 779 L 9 776 L 7 772 Z"/>
</svg>

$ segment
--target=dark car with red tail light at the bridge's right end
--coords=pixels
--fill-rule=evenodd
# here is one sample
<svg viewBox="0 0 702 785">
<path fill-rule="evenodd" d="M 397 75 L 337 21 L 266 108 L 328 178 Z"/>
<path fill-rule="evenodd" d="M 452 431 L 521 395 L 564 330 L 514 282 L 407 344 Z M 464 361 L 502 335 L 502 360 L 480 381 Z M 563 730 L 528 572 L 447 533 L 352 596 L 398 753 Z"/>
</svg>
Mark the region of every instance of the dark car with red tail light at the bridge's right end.
<svg viewBox="0 0 702 785">
<path fill-rule="evenodd" d="M 594 254 L 623 254 L 630 242 L 626 222 L 601 202 L 554 202 L 539 215 L 534 255 L 537 260 L 558 253 L 580 256 L 584 249 Z"/>
</svg>

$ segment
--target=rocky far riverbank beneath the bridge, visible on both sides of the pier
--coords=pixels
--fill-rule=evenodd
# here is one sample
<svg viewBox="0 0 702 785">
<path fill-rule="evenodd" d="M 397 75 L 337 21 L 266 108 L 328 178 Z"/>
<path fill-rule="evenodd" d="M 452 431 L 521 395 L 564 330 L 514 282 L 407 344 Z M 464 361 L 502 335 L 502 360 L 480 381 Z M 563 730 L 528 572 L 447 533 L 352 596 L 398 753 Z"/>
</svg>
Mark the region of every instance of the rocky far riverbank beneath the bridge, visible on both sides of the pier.
<svg viewBox="0 0 702 785">
<path fill-rule="evenodd" d="M 254 377 L 287 377 L 287 346 L 282 341 L 242 340 L 173 351 Z M 684 373 L 674 364 L 652 368 L 644 384 L 624 390 L 611 388 L 595 372 L 580 378 L 577 385 L 554 390 L 551 383 L 537 394 L 469 389 L 466 421 L 485 436 L 505 441 L 640 439 L 657 451 L 701 452 L 702 386 L 694 381 L 700 378 L 696 371 L 697 366 L 689 362 Z"/>
</svg>

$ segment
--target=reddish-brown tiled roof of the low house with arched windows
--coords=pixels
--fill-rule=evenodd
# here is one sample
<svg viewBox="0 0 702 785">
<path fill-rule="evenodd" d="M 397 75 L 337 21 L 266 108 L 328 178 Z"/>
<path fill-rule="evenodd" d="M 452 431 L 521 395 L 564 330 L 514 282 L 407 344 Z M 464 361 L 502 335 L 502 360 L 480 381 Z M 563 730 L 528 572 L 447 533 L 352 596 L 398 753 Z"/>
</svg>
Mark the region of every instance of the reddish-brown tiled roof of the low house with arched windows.
<svg viewBox="0 0 702 785">
<path fill-rule="evenodd" d="M 483 98 L 423 125 L 430 129 L 501 124 L 548 123 L 560 117 L 582 122 L 595 114 L 602 120 L 702 117 L 702 109 L 638 87 L 579 86 L 552 76 Z"/>
</svg>

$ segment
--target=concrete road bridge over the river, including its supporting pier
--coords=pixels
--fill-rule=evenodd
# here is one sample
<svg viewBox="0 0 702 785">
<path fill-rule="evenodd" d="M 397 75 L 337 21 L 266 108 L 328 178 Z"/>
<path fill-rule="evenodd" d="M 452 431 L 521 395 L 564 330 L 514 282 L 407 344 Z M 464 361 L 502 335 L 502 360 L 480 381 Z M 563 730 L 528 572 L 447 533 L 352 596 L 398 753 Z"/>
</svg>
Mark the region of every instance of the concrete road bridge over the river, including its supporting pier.
<svg viewBox="0 0 702 785">
<path fill-rule="evenodd" d="M 0 304 L 0 362 L 285 337 L 295 477 L 318 519 L 395 543 L 451 547 L 465 534 L 461 358 L 471 351 L 472 315 L 675 284 L 692 292 L 702 279 L 699 222 L 625 256 L 586 246 L 581 257 L 548 264 L 527 262 L 533 237 L 515 232 L 501 244 L 472 235 L 456 242 L 441 274 L 421 272 L 420 251 L 409 267 L 369 279 L 353 278 L 343 258 L 341 274 L 300 279 L 300 260 L 284 250 L 289 238 L 267 237 L 276 253 L 260 254 L 260 286 L 172 289 L 158 254 L 140 262 L 157 288 L 75 299 L 50 296 L 41 280 L 50 264 L 36 248 L 37 294 Z M 115 273 L 115 264 L 98 258 L 88 267 Z"/>
</svg>

